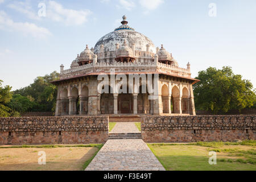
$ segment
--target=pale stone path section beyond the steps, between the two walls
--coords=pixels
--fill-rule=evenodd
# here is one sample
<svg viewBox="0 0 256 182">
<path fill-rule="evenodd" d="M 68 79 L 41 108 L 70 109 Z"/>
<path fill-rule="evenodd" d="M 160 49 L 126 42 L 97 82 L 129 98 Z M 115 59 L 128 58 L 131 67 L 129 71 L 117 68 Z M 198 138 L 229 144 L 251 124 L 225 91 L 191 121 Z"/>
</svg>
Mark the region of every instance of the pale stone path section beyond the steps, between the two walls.
<svg viewBox="0 0 256 182">
<path fill-rule="evenodd" d="M 110 133 L 141 133 L 134 122 L 117 123 Z"/>
</svg>

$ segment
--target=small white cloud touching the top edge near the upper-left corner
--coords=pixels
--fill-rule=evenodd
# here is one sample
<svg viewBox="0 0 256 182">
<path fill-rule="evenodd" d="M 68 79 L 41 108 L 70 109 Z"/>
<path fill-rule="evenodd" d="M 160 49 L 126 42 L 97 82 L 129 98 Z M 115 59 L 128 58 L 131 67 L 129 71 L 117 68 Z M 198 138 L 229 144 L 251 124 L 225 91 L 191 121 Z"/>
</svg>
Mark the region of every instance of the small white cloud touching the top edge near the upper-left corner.
<svg viewBox="0 0 256 182">
<path fill-rule="evenodd" d="M 28 1 L 26 1 L 26 2 L 16 2 L 15 1 L 15 2 L 7 5 L 7 7 L 9 7 L 10 9 L 16 10 L 19 13 L 25 14 L 30 19 L 35 19 L 35 20 L 40 19 L 38 14 L 36 14 L 32 10 L 32 7 L 30 6 L 30 3 Z"/>
</svg>

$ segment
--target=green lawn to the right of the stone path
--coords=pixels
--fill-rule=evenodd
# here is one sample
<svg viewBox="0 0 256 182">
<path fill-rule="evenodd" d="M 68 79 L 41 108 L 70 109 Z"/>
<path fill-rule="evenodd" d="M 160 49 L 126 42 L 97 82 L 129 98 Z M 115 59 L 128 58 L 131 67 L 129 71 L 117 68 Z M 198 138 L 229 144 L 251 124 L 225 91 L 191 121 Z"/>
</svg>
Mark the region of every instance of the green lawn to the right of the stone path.
<svg viewBox="0 0 256 182">
<path fill-rule="evenodd" d="M 253 170 L 256 171 L 255 141 L 244 143 L 199 142 L 148 144 L 168 171 Z M 217 152 L 217 164 L 209 164 L 209 151 Z"/>
</svg>

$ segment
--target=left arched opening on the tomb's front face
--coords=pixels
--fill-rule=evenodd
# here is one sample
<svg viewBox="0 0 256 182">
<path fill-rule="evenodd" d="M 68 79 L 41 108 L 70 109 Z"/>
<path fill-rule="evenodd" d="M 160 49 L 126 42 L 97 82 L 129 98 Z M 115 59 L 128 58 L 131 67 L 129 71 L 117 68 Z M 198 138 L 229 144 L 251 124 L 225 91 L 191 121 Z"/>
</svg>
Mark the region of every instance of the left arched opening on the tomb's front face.
<svg viewBox="0 0 256 182">
<path fill-rule="evenodd" d="M 114 95 L 112 93 L 112 87 L 109 86 L 109 93 L 101 94 L 101 114 L 114 114 Z"/>
</svg>

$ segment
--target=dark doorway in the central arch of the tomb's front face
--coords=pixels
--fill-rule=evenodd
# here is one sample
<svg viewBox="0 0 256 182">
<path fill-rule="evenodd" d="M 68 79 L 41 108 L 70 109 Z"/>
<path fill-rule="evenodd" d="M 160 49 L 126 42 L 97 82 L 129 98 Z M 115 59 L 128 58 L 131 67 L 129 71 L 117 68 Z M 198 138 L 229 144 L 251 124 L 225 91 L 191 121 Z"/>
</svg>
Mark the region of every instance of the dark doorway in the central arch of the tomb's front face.
<svg viewBox="0 0 256 182">
<path fill-rule="evenodd" d="M 133 114 L 133 95 L 132 94 L 118 95 L 118 113 Z"/>
</svg>

